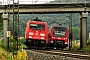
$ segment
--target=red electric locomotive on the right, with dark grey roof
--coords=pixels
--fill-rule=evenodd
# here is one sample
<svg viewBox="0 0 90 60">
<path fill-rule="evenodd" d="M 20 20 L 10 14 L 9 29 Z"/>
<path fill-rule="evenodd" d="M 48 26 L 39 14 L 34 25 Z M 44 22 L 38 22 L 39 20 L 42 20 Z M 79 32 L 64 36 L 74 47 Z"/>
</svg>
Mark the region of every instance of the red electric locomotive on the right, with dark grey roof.
<svg viewBox="0 0 90 60">
<path fill-rule="evenodd" d="M 66 48 L 69 44 L 70 30 L 64 24 L 54 23 L 50 28 L 50 47 Z"/>
</svg>

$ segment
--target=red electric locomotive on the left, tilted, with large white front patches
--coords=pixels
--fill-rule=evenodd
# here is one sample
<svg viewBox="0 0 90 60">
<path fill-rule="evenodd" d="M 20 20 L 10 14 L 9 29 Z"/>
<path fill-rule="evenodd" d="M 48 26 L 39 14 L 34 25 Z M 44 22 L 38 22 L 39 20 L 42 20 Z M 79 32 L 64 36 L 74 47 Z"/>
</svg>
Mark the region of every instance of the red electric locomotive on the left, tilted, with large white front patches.
<svg viewBox="0 0 90 60">
<path fill-rule="evenodd" d="M 48 43 L 48 24 L 39 19 L 30 20 L 26 25 L 26 43 L 29 46 L 43 47 Z"/>
</svg>

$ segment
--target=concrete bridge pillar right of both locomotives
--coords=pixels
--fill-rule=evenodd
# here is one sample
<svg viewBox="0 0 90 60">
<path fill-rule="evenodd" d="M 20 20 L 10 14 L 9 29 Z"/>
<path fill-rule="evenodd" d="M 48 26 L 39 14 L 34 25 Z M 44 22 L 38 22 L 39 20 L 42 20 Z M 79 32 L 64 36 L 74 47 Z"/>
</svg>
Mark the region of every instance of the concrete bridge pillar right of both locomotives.
<svg viewBox="0 0 90 60">
<path fill-rule="evenodd" d="M 80 48 L 87 46 L 87 16 L 88 12 L 82 12 L 80 14 Z"/>
</svg>

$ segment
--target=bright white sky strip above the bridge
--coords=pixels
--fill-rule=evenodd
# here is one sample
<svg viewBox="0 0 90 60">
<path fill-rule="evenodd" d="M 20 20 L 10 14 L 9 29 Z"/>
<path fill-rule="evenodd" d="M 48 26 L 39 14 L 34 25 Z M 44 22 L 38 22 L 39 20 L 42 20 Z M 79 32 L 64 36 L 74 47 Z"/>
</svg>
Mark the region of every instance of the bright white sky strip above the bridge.
<svg viewBox="0 0 90 60">
<path fill-rule="evenodd" d="M 2 4 L 0 5 L 6 5 L 6 4 L 13 4 L 13 0 L 0 0 Z M 50 2 L 54 0 L 19 0 L 19 4 L 43 4 L 46 2 Z M 14 2 L 18 2 L 18 0 L 14 0 Z"/>
</svg>

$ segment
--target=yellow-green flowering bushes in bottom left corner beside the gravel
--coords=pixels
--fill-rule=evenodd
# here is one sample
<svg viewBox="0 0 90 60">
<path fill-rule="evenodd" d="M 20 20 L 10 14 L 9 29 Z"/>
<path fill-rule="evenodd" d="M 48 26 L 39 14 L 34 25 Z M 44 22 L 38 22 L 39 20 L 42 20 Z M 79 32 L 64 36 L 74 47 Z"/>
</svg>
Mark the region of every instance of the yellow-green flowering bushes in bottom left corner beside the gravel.
<svg viewBox="0 0 90 60">
<path fill-rule="evenodd" d="M 4 51 L 0 48 L 0 60 L 27 60 L 27 53 L 25 50 L 19 50 L 17 55 L 12 55 L 12 53 Z"/>
</svg>

